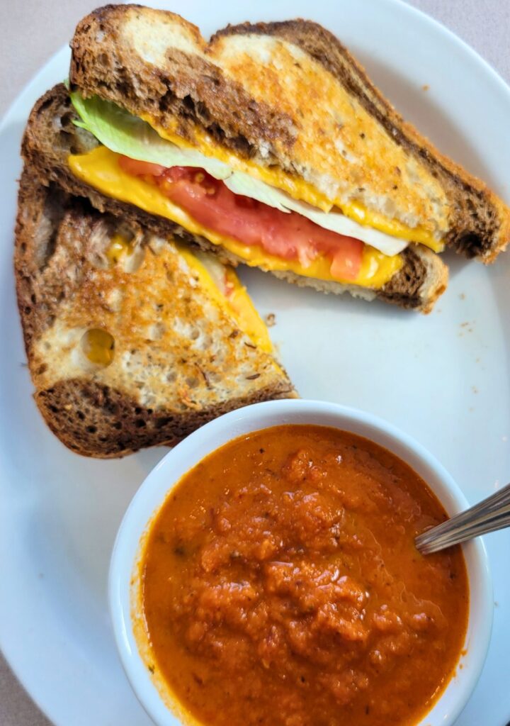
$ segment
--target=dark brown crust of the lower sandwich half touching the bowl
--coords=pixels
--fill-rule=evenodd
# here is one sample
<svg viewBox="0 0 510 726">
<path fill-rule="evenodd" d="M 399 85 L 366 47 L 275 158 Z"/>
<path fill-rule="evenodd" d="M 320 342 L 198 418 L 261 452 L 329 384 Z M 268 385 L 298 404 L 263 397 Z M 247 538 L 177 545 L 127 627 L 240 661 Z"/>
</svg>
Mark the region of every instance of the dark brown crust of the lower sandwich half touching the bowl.
<svg viewBox="0 0 510 726">
<path fill-rule="evenodd" d="M 55 252 L 59 224 L 68 213 L 77 219 L 102 218 L 86 200 L 70 197 L 55 184 L 43 187 L 30 167 L 25 166 L 15 230 L 17 301 L 28 367 L 36 385 L 34 399 L 46 424 L 65 446 L 83 456 L 105 459 L 122 457 L 147 446 L 173 446 L 223 413 L 258 401 L 295 396 L 284 373 L 275 377 L 271 386 L 260 388 L 254 381 L 249 393 L 239 395 L 232 391 L 230 399 L 186 411 L 145 407 L 126 391 L 104 386 L 86 376 L 37 388 L 42 371 L 34 366 L 36 340 L 58 317 L 60 301 L 80 284 L 75 272 L 68 276 L 65 271 L 61 276 L 44 276 Z M 75 263 L 79 270 L 79 252 Z"/>
</svg>

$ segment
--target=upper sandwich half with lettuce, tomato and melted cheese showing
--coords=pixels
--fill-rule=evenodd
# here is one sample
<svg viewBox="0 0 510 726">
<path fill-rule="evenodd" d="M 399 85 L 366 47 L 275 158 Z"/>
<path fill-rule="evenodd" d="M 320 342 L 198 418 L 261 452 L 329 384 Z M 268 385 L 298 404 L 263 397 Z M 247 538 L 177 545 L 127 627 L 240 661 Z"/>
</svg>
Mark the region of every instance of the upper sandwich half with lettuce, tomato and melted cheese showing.
<svg viewBox="0 0 510 726">
<path fill-rule="evenodd" d="M 297 285 L 424 312 L 448 280 L 437 253 L 488 263 L 509 241 L 506 205 L 316 23 L 245 23 L 206 43 L 171 12 L 108 5 L 71 48 L 69 94 L 30 119 L 57 138 L 28 134 L 23 150 L 101 210 Z"/>
</svg>

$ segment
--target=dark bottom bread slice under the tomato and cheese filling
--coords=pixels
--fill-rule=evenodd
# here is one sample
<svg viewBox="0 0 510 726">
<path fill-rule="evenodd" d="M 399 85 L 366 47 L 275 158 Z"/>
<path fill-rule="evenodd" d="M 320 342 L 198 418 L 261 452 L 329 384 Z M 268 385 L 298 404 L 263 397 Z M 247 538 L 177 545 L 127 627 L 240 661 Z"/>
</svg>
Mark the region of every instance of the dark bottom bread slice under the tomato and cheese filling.
<svg viewBox="0 0 510 726">
<path fill-rule="evenodd" d="M 33 174 L 42 184 L 55 181 L 71 195 L 87 197 L 99 211 L 107 211 L 122 219 L 131 220 L 152 230 L 155 234 L 168 235 L 184 242 L 200 245 L 203 250 L 213 251 L 221 261 L 236 266 L 242 258 L 214 245 L 204 237 L 190 234 L 178 224 L 160 216 L 107 197 L 73 176 L 67 163 L 71 153 L 85 153 L 97 142 L 91 134 L 74 125 L 75 113 L 65 86 L 55 86 L 36 102 L 22 141 L 22 155 Z M 440 258 L 427 248 L 410 245 L 403 252 L 403 267 L 392 280 L 379 290 L 340 282 L 322 282 L 291 272 L 275 272 L 297 285 L 315 287 L 325 293 L 349 292 L 361 298 L 380 298 L 401 307 L 429 312 L 448 282 L 448 269 Z"/>
</svg>

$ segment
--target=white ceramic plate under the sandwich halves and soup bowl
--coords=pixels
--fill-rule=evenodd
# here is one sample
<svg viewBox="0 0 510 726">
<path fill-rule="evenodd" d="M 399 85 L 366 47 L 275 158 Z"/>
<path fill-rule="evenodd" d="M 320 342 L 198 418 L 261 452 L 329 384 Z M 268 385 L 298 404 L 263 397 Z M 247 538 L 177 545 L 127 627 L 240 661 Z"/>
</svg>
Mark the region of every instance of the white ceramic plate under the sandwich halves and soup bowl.
<svg viewBox="0 0 510 726">
<path fill-rule="evenodd" d="M 161 4 L 163 7 L 163 3 Z M 510 90 L 471 49 L 397 0 L 188 0 L 202 31 L 310 17 L 350 46 L 410 121 L 510 201 Z M 115 652 L 107 613 L 110 550 L 136 487 L 165 449 L 86 460 L 46 429 L 30 398 L 12 278 L 18 150 L 36 98 L 67 75 L 62 49 L 0 128 L 0 644 L 57 726 L 146 726 Z M 429 85 L 429 91 L 422 86 Z M 300 393 L 366 409 L 421 441 L 470 501 L 510 473 L 510 256 L 485 269 L 451 260 L 429 317 L 243 274 Z M 510 533 L 488 537 L 495 621 L 461 726 L 510 719 Z"/>
</svg>

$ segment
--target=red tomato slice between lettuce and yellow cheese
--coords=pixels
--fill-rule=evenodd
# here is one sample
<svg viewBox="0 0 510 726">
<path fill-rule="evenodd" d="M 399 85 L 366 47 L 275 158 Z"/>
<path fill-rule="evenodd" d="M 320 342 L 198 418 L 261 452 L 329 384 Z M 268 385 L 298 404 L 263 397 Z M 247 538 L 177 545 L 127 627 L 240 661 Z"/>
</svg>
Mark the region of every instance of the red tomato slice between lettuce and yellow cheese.
<svg viewBox="0 0 510 726">
<path fill-rule="evenodd" d="M 333 277 L 355 280 L 361 268 L 363 242 L 318 227 L 295 212 L 281 212 L 231 192 L 203 169 L 157 164 L 120 157 L 128 174 L 154 177 L 162 192 L 207 229 L 244 245 L 308 266 L 319 254 L 332 261 Z M 149 171 L 149 169 L 153 171 Z"/>
</svg>

